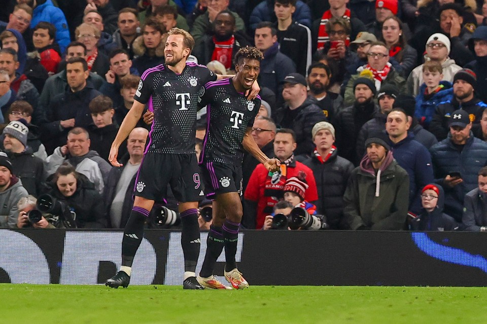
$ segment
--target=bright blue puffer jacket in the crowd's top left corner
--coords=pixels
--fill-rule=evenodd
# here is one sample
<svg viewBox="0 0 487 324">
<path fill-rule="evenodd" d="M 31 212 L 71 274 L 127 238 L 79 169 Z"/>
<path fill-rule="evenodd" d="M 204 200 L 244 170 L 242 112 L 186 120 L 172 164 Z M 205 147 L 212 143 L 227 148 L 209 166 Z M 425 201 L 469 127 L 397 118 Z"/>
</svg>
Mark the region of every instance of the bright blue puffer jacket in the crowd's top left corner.
<svg viewBox="0 0 487 324">
<path fill-rule="evenodd" d="M 61 53 L 64 53 L 66 46 L 71 42 L 69 29 L 67 28 L 66 17 L 63 12 L 61 9 L 54 7 L 51 0 L 46 0 L 44 4 L 34 9 L 30 28 L 36 27 L 41 21 L 50 22 L 56 27 L 56 43 L 59 44 Z"/>
</svg>

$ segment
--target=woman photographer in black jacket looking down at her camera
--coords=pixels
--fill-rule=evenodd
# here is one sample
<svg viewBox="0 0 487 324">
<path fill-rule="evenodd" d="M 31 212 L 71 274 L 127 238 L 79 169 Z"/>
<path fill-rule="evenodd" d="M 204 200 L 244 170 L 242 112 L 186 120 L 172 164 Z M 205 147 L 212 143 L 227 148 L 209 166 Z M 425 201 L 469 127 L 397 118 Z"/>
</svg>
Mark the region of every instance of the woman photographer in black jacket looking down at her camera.
<svg viewBox="0 0 487 324">
<path fill-rule="evenodd" d="M 101 195 L 93 183 L 69 163 L 63 163 L 54 173 L 52 189 L 47 193 L 67 205 L 76 214 L 79 228 L 106 228 L 107 217 Z"/>
</svg>

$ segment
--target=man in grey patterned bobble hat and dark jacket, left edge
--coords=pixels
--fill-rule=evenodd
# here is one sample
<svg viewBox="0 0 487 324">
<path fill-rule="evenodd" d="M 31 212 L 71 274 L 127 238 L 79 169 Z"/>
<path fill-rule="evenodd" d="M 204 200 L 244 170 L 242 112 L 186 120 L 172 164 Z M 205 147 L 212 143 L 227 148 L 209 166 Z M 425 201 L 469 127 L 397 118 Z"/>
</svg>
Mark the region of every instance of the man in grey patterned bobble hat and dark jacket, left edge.
<svg viewBox="0 0 487 324">
<path fill-rule="evenodd" d="M 44 163 L 27 146 L 29 129 L 25 123 L 11 121 L 2 133 L 3 146 L 12 163 L 12 173 L 22 180 L 27 192 L 37 197 L 44 181 Z"/>
</svg>

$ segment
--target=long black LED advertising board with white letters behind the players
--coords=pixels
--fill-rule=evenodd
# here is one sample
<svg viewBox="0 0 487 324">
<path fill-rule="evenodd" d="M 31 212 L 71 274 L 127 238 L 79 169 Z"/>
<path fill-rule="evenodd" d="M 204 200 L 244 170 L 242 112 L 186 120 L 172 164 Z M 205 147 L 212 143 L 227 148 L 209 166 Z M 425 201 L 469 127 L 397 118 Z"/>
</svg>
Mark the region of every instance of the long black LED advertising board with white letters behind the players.
<svg viewBox="0 0 487 324">
<path fill-rule="evenodd" d="M 104 283 L 121 265 L 122 236 L 0 230 L 0 282 Z M 486 257 L 484 233 L 241 231 L 236 260 L 252 285 L 485 286 Z M 222 253 L 216 275 L 223 275 L 224 261 Z M 181 232 L 146 230 L 130 283 L 180 285 L 183 272 Z"/>
</svg>

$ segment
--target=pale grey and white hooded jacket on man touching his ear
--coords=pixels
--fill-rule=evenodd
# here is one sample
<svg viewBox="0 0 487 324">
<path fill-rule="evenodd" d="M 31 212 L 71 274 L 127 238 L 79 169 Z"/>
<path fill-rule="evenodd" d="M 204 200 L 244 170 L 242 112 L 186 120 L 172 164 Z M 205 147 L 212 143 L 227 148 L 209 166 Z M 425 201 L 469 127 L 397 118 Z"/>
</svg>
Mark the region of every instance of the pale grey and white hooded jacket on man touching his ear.
<svg viewBox="0 0 487 324">
<path fill-rule="evenodd" d="M 89 151 L 82 156 L 62 156 L 61 148 L 54 150 L 54 153 L 46 159 L 46 173 L 54 174 L 61 164 L 67 161 L 71 163 L 76 171 L 84 174 L 92 182 L 98 192 L 103 193 L 103 187 L 108 178 L 112 166 L 103 160 L 95 151 Z"/>
</svg>

